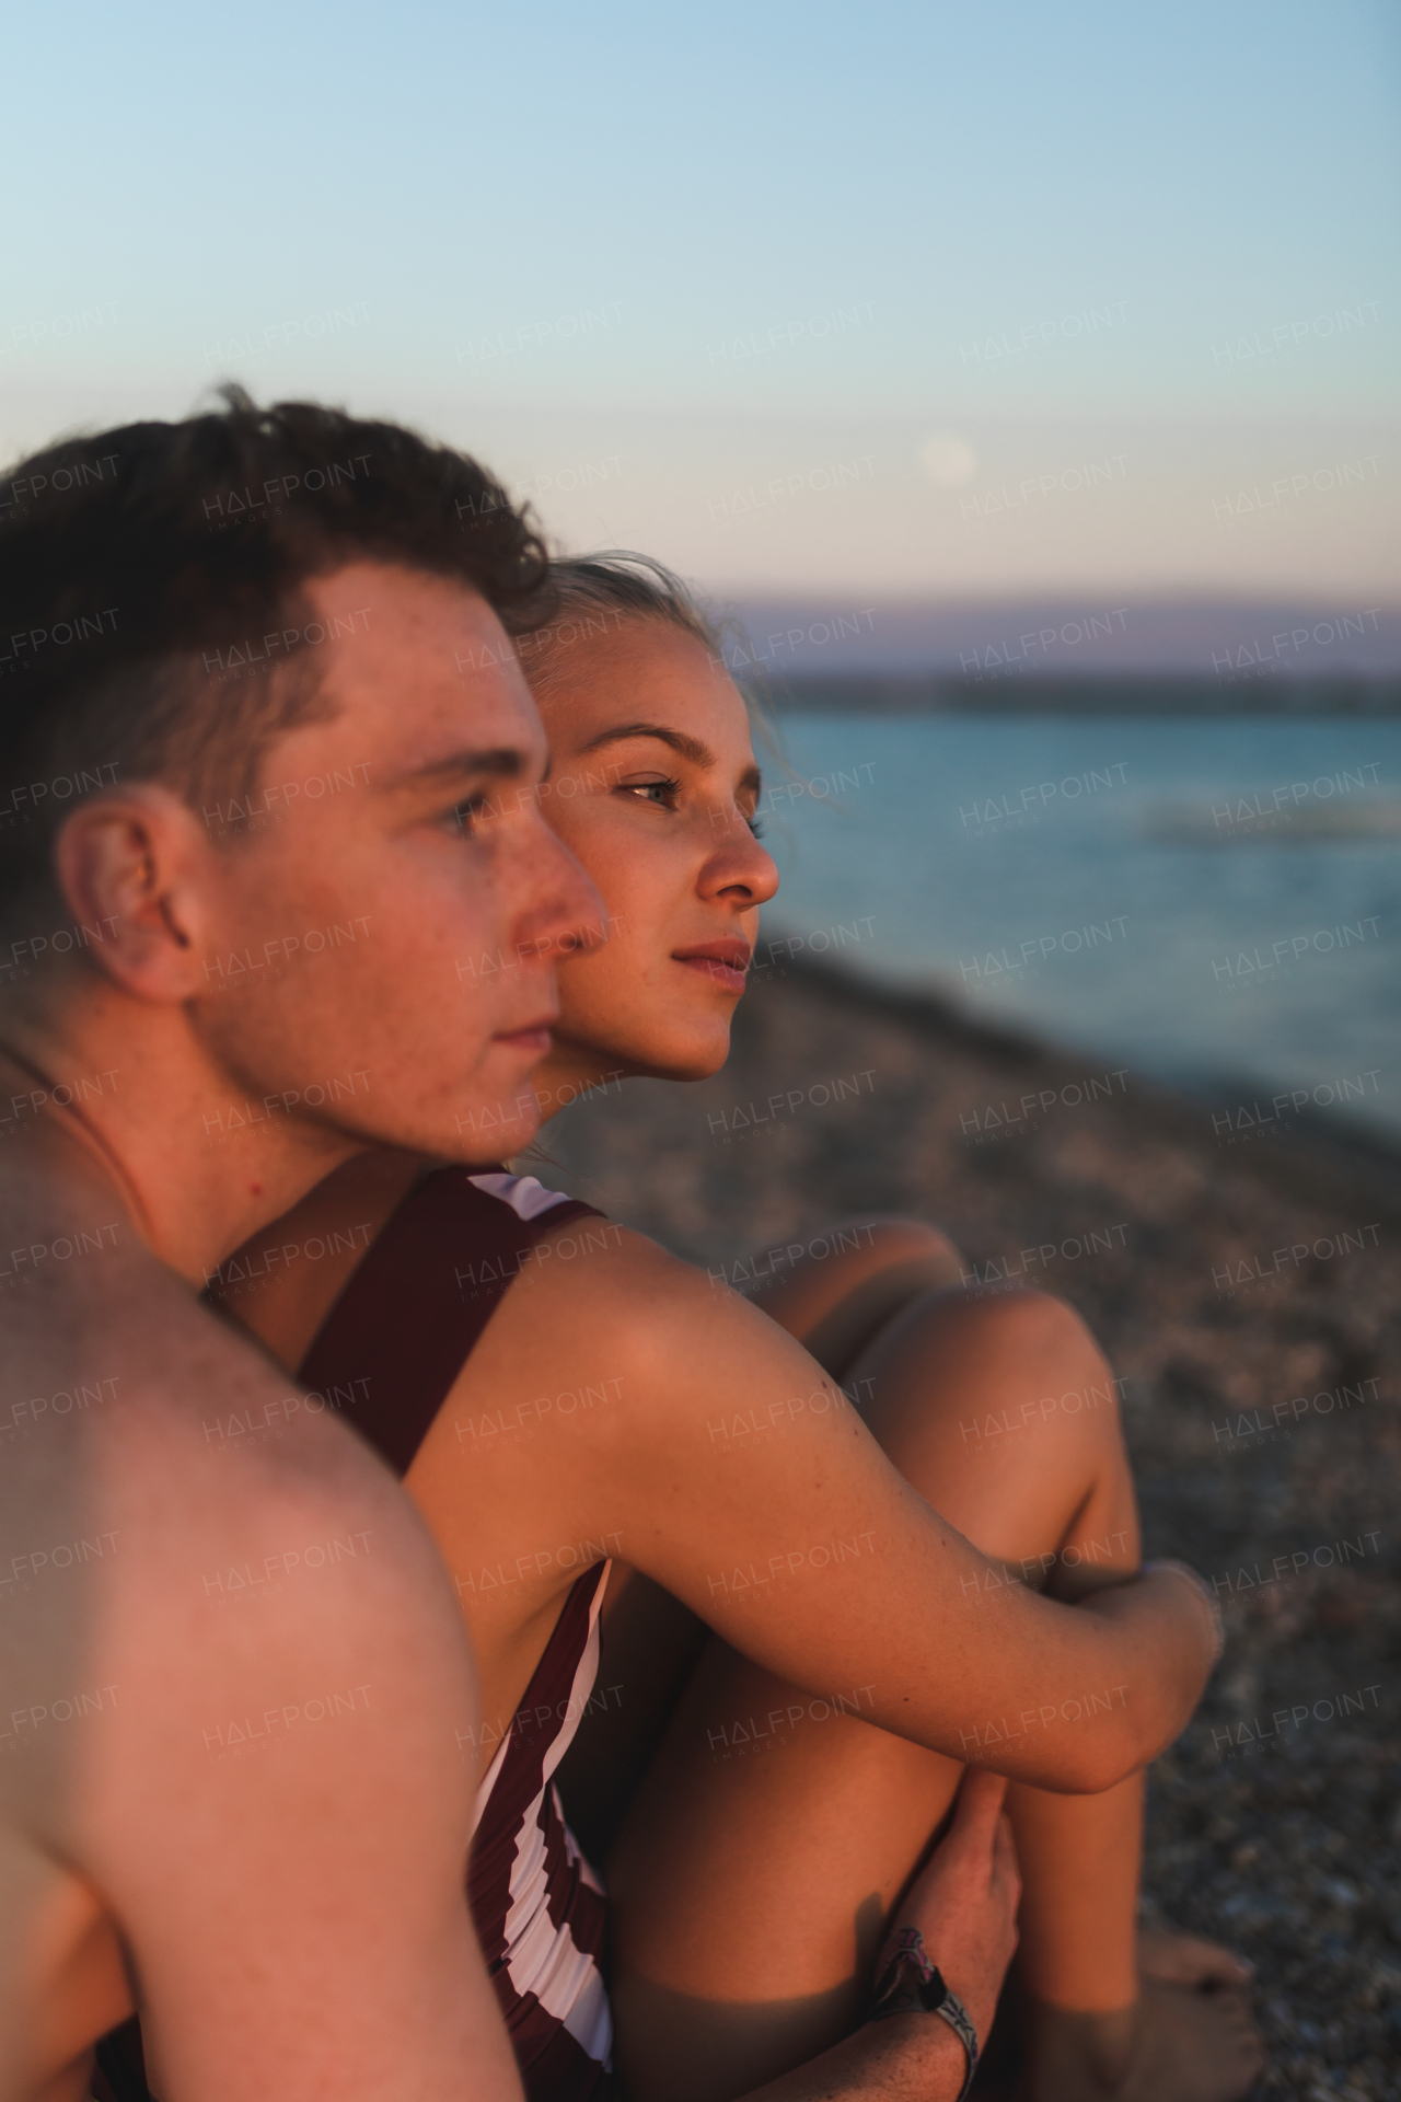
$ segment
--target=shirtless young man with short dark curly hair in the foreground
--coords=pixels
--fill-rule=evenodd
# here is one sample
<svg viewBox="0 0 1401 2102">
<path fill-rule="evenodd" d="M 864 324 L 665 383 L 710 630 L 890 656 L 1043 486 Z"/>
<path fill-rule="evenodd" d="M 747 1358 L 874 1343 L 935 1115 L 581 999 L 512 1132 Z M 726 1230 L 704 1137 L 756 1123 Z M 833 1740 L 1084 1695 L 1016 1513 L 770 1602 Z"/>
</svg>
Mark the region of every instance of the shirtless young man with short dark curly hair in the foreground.
<svg viewBox="0 0 1401 2102">
<path fill-rule="evenodd" d="M 200 1291 L 359 1148 L 534 1129 L 597 898 L 529 795 L 477 816 L 542 776 L 544 555 L 471 460 L 242 397 L 8 496 L 0 2096 L 76 2102 L 139 2003 L 162 2102 L 510 2098 L 452 1589 L 361 1396 Z"/>
</svg>

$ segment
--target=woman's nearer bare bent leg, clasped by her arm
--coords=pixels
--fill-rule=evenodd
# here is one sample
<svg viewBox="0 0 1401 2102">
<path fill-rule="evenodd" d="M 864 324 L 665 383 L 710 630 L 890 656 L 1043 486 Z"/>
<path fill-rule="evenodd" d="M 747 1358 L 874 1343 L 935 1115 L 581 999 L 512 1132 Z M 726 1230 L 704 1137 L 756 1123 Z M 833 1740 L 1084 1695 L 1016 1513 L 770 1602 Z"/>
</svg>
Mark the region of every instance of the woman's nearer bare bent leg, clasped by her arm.
<svg viewBox="0 0 1401 2102">
<path fill-rule="evenodd" d="M 811 1276 L 758 1303 L 796 1326 L 802 1293 L 809 1341 L 823 1322 L 832 1333 L 840 1303 L 821 1305 Z M 924 1295 L 853 1362 L 834 1358 L 905 1478 L 1010 1570 L 1029 1558 L 1075 1598 L 1136 1564 L 1113 1381 L 1069 1310 L 1033 1293 Z M 991 1633 L 996 1595 L 970 1610 Z M 1031 1726 L 1075 1728 L 1075 1696 L 1105 1692 L 1067 1688 L 1065 1713 Z M 954 1761 L 861 1724 L 863 1698 L 815 1701 L 720 1644 L 704 1656 L 609 1862 L 620 2064 L 636 2102 L 739 2094 L 855 2018 L 884 1919 L 958 1782 Z M 970 1715 L 970 1747 L 1004 1726 Z M 1141 1780 L 1012 1799 L 1031 2094 L 1239 2094 L 1252 2073 L 1239 2003 L 1176 1991 L 1164 2010 L 1162 1991 L 1138 1991 Z M 1134 2064 L 1149 2028 L 1155 2085 Z"/>
</svg>

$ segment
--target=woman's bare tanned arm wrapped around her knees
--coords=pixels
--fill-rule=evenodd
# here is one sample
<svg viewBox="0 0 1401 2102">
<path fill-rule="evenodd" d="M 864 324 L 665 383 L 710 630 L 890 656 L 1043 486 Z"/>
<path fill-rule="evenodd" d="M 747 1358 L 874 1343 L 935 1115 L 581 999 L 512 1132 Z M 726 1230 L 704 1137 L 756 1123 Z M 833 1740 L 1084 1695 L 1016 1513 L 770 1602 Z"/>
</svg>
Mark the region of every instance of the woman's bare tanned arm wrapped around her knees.
<svg viewBox="0 0 1401 2102">
<path fill-rule="evenodd" d="M 1036 1595 L 909 1488 L 792 1337 L 636 1234 L 531 1265 L 510 1299 L 513 1383 L 559 1387 L 565 1339 L 569 1362 L 613 1373 L 615 1404 L 550 1431 L 569 1507 L 607 1509 L 622 1558 L 746 1656 L 1067 1793 L 1111 1787 L 1185 1726 L 1216 1627 L 1183 1572 L 1073 1608 Z"/>
</svg>

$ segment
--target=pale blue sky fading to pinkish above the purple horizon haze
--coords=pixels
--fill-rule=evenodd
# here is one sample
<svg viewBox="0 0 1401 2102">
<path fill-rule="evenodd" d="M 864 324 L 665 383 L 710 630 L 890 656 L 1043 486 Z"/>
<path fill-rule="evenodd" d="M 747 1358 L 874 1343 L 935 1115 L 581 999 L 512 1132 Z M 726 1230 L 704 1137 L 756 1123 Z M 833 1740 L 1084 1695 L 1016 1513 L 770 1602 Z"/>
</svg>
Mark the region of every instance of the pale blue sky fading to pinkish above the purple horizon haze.
<svg viewBox="0 0 1401 2102">
<path fill-rule="evenodd" d="M 1399 21 L 34 6 L 0 441 L 233 374 L 424 423 L 563 540 L 727 586 L 1374 591 Z"/>
</svg>

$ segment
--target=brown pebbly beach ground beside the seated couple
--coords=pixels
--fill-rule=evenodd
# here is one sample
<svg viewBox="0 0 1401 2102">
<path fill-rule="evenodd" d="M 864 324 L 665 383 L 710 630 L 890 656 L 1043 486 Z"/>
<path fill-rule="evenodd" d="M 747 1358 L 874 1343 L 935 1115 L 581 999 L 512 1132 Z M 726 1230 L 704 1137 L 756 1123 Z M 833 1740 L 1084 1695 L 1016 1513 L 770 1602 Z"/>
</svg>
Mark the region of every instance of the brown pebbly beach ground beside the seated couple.
<svg viewBox="0 0 1401 2102">
<path fill-rule="evenodd" d="M 1222 1095 L 1212 1129 L 1094 1059 L 790 971 L 752 984 L 723 1074 L 565 1112 L 544 1173 L 710 1268 L 920 1213 L 979 1278 L 1080 1307 L 1124 1381 L 1147 1551 L 1208 1574 L 1229 1629 L 1153 1768 L 1145 1911 L 1256 1963 L 1256 2094 L 1380 2102 L 1401 2096 L 1401 1207 L 1306 1133 L 1237 1133 L 1252 1101 Z"/>
</svg>

